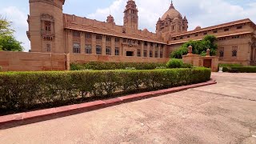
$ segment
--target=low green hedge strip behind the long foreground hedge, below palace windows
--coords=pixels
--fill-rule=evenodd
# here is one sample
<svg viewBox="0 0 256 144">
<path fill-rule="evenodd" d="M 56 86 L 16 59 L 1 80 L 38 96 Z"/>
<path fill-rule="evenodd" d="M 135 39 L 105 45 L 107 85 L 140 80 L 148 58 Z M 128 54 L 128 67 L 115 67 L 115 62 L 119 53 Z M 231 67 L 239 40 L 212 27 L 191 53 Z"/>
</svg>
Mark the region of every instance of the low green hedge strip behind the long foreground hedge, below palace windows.
<svg viewBox="0 0 256 144">
<path fill-rule="evenodd" d="M 166 63 L 138 63 L 138 62 L 88 62 L 84 64 L 72 63 L 70 70 L 154 70 L 157 67 L 166 66 Z"/>
</svg>

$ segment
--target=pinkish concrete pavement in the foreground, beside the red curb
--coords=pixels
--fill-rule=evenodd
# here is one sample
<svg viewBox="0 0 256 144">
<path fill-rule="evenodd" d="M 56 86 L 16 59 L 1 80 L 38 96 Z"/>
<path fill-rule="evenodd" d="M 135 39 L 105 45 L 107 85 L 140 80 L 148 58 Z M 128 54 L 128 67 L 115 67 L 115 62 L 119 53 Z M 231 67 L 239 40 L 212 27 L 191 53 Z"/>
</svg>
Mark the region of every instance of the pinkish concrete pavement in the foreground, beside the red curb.
<svg viewBox="0 0 256 144">
<path fill-rule="evenodd" d="M 256 74 L 0 130 L 0 143 L 256 143 Z"/>
</svg>

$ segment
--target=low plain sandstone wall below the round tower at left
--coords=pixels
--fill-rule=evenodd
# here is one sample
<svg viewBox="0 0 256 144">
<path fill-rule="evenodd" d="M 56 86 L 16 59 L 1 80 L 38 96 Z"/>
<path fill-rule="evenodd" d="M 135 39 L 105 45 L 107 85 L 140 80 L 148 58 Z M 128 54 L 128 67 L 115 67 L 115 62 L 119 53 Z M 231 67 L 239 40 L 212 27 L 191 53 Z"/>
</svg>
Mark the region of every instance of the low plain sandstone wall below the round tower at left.
<svg viewBox="0 0 256 144">
<path fill-rule="evenodd" d="M 2 71 L 66 70 L 66 54 L 0 51 Z"/>
</svg>

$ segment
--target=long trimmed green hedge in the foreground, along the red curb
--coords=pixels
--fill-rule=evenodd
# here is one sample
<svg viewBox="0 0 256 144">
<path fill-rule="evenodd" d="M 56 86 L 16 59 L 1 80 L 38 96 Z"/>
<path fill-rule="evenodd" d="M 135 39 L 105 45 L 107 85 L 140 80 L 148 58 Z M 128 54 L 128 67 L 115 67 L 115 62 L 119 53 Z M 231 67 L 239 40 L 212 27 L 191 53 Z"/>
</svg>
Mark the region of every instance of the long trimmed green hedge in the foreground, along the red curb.
<svg viewBox="0 0 256 144">
<path fill-rule="evenodd" d="M 0 114 L 206 82 L 210 69 L 0 73 Z"/>
</svg>

